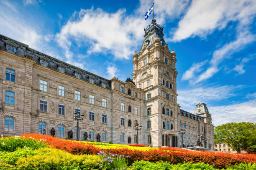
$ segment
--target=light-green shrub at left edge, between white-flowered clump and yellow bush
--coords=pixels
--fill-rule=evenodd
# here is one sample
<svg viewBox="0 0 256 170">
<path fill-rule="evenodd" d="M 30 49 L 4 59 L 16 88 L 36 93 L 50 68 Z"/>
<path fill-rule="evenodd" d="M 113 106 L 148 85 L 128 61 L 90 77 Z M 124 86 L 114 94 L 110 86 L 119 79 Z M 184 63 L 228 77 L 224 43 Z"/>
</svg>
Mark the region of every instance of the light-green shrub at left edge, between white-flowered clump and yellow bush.
<svg viewBox="0 0 256 170">
<path fill-rule="evenodd" d="M 31 148 L 18 148 L 14 152 L 0 151 L 0 160 L 5 160 L 5 163 L 16 165 L 19 158 L 27 157 L 28 155 L 36 155 L 38 150 Z"/>
</svg>

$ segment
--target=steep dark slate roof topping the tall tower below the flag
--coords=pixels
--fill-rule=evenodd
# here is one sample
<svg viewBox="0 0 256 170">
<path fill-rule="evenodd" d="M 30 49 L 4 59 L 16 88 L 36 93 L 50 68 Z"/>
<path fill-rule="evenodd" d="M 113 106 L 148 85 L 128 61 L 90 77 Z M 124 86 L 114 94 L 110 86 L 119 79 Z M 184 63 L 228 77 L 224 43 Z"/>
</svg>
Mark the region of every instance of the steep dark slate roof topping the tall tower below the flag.
<svg viewBox="0 0 256 170">
<path fill-rule="evenodd" d="M 160 25 L 156 23 L 155 19 L 152 20 L 151 24 L 149 24 L 147 28 L 144 28 L 145 35 L 144 35 L 144 41 L 141 46 L 140 52 L 142 51 L 144 45 L 146 47 L 150 47 L 151 45 L 153 45 L 156 36 L 159 38 L 161 45 L 164 46 L 166 43 L 164 41 L 163 30 L 164 30 L 164 27 L 160 27 Z"/>
</svg>

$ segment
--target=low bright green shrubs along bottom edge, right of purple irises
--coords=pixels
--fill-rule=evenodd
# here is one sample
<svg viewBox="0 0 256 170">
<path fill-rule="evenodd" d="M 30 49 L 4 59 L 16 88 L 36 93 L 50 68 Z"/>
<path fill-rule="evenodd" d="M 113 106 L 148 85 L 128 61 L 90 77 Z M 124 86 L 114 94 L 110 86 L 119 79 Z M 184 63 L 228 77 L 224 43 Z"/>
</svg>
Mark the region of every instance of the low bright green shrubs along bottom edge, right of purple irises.
<svg viewBox="0 0 256 170">
<path fill-rule="evenodd" d="M 148 161 L 137 161 L 132 165 L 133 170 L 218 170 L 213 165 L 205 163 L 178 163 L 177 165 L 168 162 L 151 163 Z"/>
</svg>

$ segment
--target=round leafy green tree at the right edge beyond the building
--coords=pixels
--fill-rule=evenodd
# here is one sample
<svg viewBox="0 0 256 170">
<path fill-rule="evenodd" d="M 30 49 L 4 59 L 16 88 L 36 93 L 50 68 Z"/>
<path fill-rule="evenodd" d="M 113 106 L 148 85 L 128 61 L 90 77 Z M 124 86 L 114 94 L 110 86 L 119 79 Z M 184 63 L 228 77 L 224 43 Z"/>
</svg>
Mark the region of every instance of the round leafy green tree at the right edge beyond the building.
<svg viewBox="0 0 256 170">
<path fill-rule="evenodd" d="M 226 123 L 214 128 L 214 143 L 226 143 L 238 153 L 241 149 L 256 145 L 256 123 L 240 122 Z M 239 146 L 240 145 L 240 146 Z"/>
</svg>

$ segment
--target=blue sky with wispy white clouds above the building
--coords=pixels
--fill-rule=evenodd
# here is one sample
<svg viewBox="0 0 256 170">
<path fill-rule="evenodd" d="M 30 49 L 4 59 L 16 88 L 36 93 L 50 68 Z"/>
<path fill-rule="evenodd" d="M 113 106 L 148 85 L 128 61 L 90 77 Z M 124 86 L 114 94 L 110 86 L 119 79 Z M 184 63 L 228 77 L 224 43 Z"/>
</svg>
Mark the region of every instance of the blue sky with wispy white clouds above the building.
<svg viewBox="0 0 256 170">
<path fill-rule="evenodd" d="M 0 0 L 0 34 L 96 75 L 125 81 L 154 2 L 177 58 L 177 102 L 207 104 L 215 126 L 256 122 L 255 0 Z"/>
</svg>

